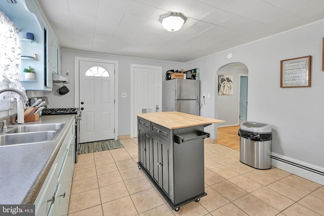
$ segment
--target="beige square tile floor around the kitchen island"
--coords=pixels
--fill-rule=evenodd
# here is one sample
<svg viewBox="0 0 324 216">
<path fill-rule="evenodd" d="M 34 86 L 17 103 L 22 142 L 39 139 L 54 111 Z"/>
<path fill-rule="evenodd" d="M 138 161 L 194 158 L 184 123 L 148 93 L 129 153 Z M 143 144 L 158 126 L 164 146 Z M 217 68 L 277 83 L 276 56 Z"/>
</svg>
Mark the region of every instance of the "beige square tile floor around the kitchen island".
<svg viewBox="0 0 324 216">
<path fill-rule="evenodd" d="M 137 167 L 137 139 L 125 148 L 82 154 L 75 164 L 69 216 L 324 215 L 324 186 L 272 167 L 239 162 L 237 150 L 205 142 L 205 191 L 171 210 Z"/>
</svg>

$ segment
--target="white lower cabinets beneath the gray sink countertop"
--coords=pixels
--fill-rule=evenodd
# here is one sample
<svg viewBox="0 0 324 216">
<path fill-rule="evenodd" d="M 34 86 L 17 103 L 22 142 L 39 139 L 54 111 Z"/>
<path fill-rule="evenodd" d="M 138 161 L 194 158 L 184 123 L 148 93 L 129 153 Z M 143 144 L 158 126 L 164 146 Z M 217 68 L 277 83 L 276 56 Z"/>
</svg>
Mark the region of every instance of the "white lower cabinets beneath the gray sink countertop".
<svg viewBox="0 0 324 216">
<path fill-rule="evenodd" d="M 45 183 L 35 200 L 36 216 L 67 215 L 73 177 L 74 125 L 63 141 Z"/>
</svg>

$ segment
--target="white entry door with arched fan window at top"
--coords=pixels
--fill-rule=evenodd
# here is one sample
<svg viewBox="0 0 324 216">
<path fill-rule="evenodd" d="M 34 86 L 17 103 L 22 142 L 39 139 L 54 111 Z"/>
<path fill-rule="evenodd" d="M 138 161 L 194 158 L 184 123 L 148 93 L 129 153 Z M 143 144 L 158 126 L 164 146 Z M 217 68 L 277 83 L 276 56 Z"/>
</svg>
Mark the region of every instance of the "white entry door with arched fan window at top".
<svg viewBox="0 0 324 216">
<path fill-rule="evenodd" d="M 114 64 L 79 61 L 80 143 L 114 139 Z"/>
</svg>

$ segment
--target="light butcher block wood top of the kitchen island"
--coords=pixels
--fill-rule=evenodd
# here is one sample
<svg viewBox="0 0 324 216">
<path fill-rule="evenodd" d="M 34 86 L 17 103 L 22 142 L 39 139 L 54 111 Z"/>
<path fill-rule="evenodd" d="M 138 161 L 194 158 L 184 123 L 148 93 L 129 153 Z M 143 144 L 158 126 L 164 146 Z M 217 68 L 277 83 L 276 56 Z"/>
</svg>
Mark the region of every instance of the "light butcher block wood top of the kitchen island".
<svg viewBox="0 0 324 216">
<path fill-rule="evenodd" d="M 169 129 L 225 122 L 223 120 L 191 115 L 183 112 L 140 113 L 137 114 L 137 116 Z"/>
</svg>

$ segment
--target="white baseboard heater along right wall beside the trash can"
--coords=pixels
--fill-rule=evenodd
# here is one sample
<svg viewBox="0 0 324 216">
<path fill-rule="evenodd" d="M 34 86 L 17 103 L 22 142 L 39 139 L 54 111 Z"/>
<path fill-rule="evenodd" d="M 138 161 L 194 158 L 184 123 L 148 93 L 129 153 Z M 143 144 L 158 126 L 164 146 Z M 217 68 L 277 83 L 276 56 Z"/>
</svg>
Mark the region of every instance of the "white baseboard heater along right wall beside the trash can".
<svg viewBox="0 0 324 216">
<path fill-rule="evenodd" d="M 284 155 L 271 153 L 272 166 L 300 176 L 312 182 L 324 185 L 324 167 L 310 164 Z"/>
</svg>

